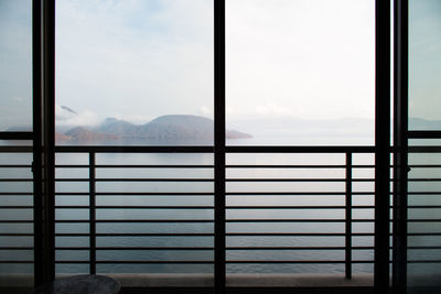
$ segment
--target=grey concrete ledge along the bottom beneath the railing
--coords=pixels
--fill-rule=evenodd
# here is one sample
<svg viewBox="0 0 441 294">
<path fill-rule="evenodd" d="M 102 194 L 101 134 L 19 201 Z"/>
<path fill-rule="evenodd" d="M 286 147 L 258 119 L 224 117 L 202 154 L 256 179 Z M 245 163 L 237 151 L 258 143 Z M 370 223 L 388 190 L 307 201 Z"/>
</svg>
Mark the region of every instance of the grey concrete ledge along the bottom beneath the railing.
<svg viewBox="0 0 441 294">
<path fill-rule="evenodd" d="M 60 274 L 57 277 L 71 274 Z M 108 273 L 122 287 L 212 287 L 212 273 Z M 344 274 L 290 274 L 290 273 L 230 273 L 227 274 L 228 287 L 363 287 L 373 286 L 373 274 L 354 274 L 345 279 Z M 0 274 L 0 286 L 33 285 L 32 274 Z"/>
</svg>

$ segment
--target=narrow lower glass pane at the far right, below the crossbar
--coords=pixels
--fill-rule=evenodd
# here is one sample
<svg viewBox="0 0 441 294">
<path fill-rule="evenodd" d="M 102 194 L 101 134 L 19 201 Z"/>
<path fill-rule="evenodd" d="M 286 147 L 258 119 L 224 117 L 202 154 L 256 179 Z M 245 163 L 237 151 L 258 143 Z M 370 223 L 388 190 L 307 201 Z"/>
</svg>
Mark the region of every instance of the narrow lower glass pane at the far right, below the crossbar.
<svg viewBox="0 0 441 294">
<path fill-rule="evenodd" d="M 424 145 L 428 140 L 421 141 L 419 144 L 415 140 L 413 145 Z M 409 293 L 439 293 L 441 290 L 441 154 L 430 152 L 435 146 L 428 145 L 428 153 L 409 154 Z"/>
</svg>

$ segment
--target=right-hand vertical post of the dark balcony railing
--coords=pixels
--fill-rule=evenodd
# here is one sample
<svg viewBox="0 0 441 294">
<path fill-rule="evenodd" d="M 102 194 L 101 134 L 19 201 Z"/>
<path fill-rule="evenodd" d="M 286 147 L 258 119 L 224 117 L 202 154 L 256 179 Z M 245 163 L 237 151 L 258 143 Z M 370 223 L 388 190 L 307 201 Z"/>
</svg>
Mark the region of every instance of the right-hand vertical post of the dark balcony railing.
<svg viewBox="0 0 441 294">
<path fill-rule="evenodd" d="M 346 152 L 345 275 L 352 279 L 352 153 Z"/>
</svg>

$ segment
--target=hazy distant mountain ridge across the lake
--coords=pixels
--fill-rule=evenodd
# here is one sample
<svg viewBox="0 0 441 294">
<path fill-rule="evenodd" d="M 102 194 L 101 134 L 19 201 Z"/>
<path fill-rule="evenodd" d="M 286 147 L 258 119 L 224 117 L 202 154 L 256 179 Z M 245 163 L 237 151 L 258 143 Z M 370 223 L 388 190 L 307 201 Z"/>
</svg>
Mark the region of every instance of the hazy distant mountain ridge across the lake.
<svg viewBox="0 0 441 294">
<path fill-rule="evenodd" d="M 57 133 L 60 142 L 110 142 L 142 141 L 150 142 L 213 142 L 214 121 L 208 118 L 190 115 L 170 115 L 153 119 L 144 124 L 135 124 L 116 118 L 107 118 L 94 128 L 76 127 L 64 133 Z M 227 139 L 252 138 L 250 134 L 227 130 Z"/>
</svg>

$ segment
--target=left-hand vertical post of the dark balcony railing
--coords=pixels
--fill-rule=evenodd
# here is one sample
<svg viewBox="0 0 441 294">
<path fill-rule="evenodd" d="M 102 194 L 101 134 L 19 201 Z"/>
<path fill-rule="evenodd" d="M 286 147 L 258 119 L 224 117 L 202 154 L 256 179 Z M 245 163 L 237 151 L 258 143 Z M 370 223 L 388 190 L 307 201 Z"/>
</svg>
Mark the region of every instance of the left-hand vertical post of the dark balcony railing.
<svg viewBox="0 0 441 294">
<path fill-rule="evenodd" d="M 95 202 L 95 152 L 89 153 L 89 262 L 90 274 L 96 273 L 96 202 Z"/>
</svg>

